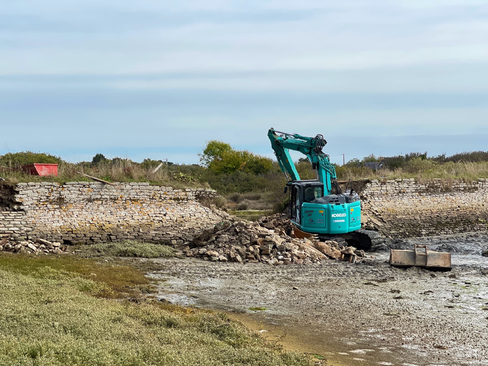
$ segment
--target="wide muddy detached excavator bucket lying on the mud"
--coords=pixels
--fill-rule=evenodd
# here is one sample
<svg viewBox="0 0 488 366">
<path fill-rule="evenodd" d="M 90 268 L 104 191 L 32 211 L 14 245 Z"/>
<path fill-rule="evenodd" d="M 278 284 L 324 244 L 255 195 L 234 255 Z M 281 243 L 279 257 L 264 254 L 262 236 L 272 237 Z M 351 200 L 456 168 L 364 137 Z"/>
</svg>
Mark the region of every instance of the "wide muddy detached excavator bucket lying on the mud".
<svg viewBox="0 0 488 366">
<path fill-rule="evenodd" d="M 425 248 L 420 252 L 417 248 Z M 427 245 L 414 245 L 413 250 L 390 250 L 390 266 L 407 267 L 415 265 L 427 269 L 451 269 L 451 253 L 428 250 Z"/>
</svg>

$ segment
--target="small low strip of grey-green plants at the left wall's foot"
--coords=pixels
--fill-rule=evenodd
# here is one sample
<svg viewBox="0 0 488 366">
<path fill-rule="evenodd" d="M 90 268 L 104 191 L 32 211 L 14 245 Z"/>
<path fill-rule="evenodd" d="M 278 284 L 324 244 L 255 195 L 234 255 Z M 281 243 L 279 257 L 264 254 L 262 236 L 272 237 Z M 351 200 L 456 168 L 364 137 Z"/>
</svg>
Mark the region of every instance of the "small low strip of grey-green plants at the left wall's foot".
<svg viewBox="0 0 488 366">
<path fill-rule="evenodd" d="M 160 258 L 174 257 L 176 250 L 168 245 L 141 243 L 136 240 L 125 240 L 121 243 L 101 243 L 81 245 L 77 248 L 78 255 L 91 257 L 138 257 Z"/>
</svg>

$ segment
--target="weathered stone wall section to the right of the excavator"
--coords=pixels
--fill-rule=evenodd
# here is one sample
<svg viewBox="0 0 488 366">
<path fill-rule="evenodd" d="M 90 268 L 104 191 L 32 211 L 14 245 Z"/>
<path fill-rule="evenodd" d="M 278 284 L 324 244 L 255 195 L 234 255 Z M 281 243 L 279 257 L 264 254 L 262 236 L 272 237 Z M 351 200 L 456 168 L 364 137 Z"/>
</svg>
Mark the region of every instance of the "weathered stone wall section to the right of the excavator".
<svg viewBox="0 0 488 366">
<path fill-rule="evenodd" d="M 488 231 L 488 180 L 366 183 L 362 221 L 386 237 L 407 238 Z"/>
</svg>

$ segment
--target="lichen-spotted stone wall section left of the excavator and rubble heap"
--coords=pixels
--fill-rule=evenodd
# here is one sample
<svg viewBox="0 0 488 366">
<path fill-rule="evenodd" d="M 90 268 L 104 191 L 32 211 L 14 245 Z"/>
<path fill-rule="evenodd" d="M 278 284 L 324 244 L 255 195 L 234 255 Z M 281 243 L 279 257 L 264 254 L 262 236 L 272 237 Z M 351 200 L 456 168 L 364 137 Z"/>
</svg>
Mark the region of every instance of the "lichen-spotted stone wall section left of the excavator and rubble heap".
<svg viewBox="0 0 488 366">
<path fill-rule="evenodd" d="M 202 200 L 217 196 L 210 189 L 94 182 L 0 187 L 0 240 L 19 236 L 76 244 L 137 239 L 177 245 L 228 216 L 203 205 Z"/>
</svg>

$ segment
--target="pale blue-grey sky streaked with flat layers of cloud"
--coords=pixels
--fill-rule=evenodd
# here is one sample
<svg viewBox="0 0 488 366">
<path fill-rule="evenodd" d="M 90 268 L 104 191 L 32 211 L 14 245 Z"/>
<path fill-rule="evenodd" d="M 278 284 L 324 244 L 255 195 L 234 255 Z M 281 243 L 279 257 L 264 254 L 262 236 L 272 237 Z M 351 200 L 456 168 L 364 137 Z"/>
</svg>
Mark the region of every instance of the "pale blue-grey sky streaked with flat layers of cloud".
<svg viewBox="0 0 488 366">
<path fill-rule="evenodd" d="M 0 154 L 272 156 L 269 127 L 335 162 L 488 150 L 486 0 L 2 3 Z"/>
</svg>

